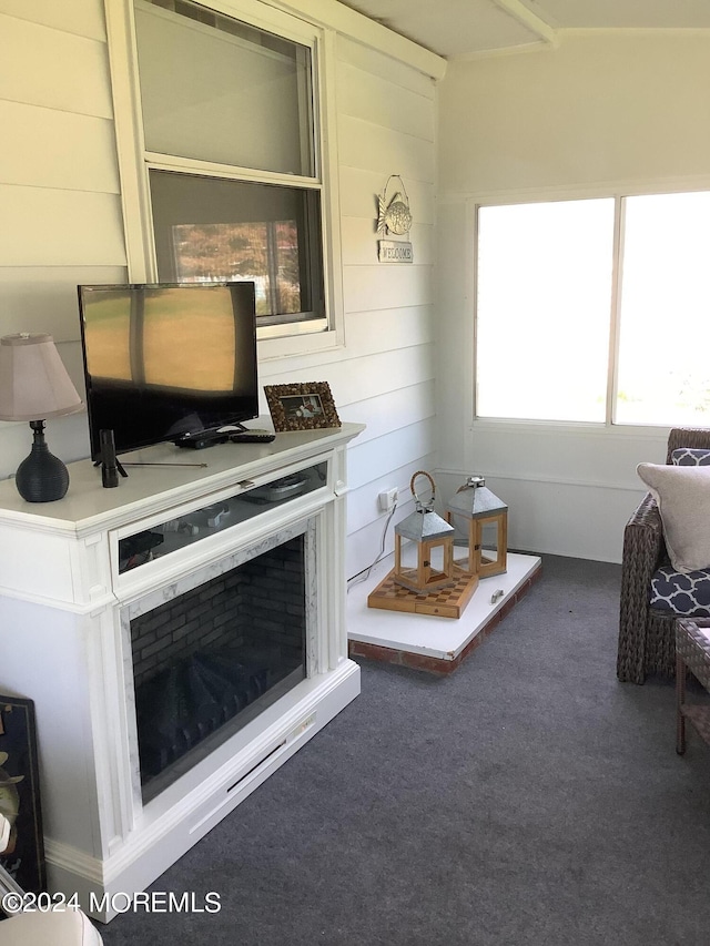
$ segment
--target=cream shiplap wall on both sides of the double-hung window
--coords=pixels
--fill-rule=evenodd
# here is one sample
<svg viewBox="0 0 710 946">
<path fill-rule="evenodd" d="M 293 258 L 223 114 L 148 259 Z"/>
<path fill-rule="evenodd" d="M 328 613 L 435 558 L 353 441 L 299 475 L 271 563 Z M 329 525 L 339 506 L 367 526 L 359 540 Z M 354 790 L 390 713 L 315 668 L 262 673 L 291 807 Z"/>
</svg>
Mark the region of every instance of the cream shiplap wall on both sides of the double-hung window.
<svg viewBox="0 0 710 946">
<path fill-rule="evenodd" d="M 337 26 L 338 7 L 318 10 Z M 379 550 L 378 491 L 435 460 L 435 83 L 342 33 L 336 50 L 346 345 L 260 372 L 263 384 L 327 380 L 342 419 L 367 424 L 351 449 L 354 573 Z M 101 0 L 0 0 L 0 332 L 53 334 L 81 386 L 75 287 L 128 277 Z M 376 194 L 390 174 L 409 196 L 414 265 L 377 262 Z M 64 460 L 87 456 L 85 415 L 50 420 L 48 439 Z M 26 424 L 0 423 L 0 477 L 29 443 Z"/>
</svg>

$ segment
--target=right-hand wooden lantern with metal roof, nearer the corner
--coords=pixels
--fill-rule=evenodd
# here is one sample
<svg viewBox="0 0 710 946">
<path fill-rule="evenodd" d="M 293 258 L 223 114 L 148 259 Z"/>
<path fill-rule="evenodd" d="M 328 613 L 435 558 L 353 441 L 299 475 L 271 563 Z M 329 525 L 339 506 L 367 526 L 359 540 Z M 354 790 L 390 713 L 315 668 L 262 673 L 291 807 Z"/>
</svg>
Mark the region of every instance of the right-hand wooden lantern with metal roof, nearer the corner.
<svg viewBox="0 0 710 946">
<path fill-rule="evenodd" d="M 507 570 L 508 507 L 486 486 L 483 476 L 469 476 L 446 507 L 446 519 L 468 520 L 468 569 L 479 578 L 503 574 Z M 484 527 L 495 526 L 495 558 L 484 553 Z M 485 550 L 488 552 L 488 549 Z M 460 564 L 460 562 L 459 562 Z"/>
</svg>

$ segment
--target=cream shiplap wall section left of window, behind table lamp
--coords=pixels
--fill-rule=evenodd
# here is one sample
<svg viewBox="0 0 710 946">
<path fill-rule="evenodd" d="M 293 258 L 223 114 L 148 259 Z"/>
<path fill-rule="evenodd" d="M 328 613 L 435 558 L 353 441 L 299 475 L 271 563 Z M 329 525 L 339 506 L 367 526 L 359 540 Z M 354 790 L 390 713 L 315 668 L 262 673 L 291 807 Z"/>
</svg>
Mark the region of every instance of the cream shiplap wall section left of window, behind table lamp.
<svg viewBox="0 0 710 946">
<path fill-rule="evenodd" d="M 81 390 L 77 285 L 125 279 L 103 11 L 98 0 L 0 0 L 0 332 L 49 332 Z M 87 456 L 85 415 L 48 421 Z M 0 423 L 0 476 L 31 444 Z"/>
</svg>

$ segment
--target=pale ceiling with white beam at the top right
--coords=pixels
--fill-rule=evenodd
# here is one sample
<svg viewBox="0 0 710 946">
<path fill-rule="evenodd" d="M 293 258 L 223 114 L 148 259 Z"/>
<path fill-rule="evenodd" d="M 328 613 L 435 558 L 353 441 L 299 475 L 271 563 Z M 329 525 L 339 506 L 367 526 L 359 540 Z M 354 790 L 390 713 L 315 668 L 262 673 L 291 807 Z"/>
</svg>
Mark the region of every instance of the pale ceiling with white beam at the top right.
<svg viewBox="0 0 710 946">
<path fill-rule="evenodd" d="M 580 29 L 710 30 L 710 0 L 341 0 L 447 59 Z"/>
</svg>

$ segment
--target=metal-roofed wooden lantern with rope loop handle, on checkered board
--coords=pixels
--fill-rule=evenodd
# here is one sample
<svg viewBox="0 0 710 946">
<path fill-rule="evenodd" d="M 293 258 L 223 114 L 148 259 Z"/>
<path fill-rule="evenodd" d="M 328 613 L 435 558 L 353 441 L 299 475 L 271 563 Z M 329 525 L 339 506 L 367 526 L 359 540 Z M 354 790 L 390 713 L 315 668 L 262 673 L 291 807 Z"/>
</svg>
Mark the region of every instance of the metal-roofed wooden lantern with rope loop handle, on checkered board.
<svg viewBox="0 0 710 946">
<path fill-rule="evenodd" d="M 423 502 L 414 489 L 418 476 L 425 476 L 432 484 L 432 498 Z M 409 591 L 427 594 L 454 584 L 454 527 L 434 511 L 436 485 L 429 474 L 418 470 L 409 484 L 416 509 L 406 519 L 395 526 L 395 569 L 394 580 Z M 405 568 L 402 563 L 402 540 L 410 539 L 416 543 L 416 568 Z M 434 553 L 440 549 L 442 567 L 436 568 L 432 562 Z"/>
</svg>

